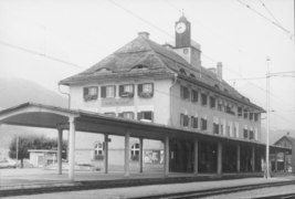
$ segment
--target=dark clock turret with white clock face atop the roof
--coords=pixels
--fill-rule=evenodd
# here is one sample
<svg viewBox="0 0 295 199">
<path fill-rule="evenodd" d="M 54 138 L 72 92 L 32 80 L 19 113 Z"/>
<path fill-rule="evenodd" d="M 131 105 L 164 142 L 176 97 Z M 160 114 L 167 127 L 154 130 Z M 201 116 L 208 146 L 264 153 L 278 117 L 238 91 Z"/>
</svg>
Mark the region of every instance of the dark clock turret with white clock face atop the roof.
<svg viewBox="0 0 295 199">
<path fill-rule="evenodd" d="M 189 48 L 190 41 L 190 22 L 182 15 L 176 22 L 176 48 Z"/>
</svg>

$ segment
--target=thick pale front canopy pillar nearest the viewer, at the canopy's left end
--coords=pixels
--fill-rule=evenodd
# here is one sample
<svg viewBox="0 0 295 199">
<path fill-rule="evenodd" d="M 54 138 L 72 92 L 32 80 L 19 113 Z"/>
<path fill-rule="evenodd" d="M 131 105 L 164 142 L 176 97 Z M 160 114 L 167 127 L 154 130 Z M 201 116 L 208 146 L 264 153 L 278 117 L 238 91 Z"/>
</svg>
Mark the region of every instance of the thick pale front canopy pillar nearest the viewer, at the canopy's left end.
<svg viewBox="0 0 295 199">
<path fill-rule="evenodd" d="M 69 118 L 70 123 L 70 153 L 69 153 L 69 178 L 71 181 L 74 181 L 75 179 L 75 117 Z"/>
</svg>

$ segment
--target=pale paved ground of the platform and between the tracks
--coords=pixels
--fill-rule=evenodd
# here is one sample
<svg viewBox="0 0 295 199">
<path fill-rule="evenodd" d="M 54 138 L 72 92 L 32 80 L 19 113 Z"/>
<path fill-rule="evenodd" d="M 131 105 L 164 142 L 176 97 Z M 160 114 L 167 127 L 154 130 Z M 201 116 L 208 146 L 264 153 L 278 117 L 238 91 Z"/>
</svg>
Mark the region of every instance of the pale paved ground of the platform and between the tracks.
<svg viewBox="0 0 295 199">
<path fill-rule="evenodd" d="M 232 174 L 234 175 L 234 174 Z M 131 172 L 129 179 L 138 178 L 159 178 L 162 177 L 162 171 L 152 171 L 152 172 Z M 171 174 L 171 177 L 188 177 L 191 174 Z M 210 175 L 206 175 L 210 177 Z M 214 175 L 211 175 L 212 177 Z M 112 172 L 105 175 L 102 171 L 76 171 L 76 180 L 116 180 L 125 179 L 123 172 Z M 232 179 L 232 180 L 214 180 L 214 181 L 198 181 L 198 182 L 186 182 L 186 184 L 170 184 L 170 185 L 152 185 L 152 186 L 140 186 L 140 187 L 129 187 L 129 188 L 113 188 L 113 189 L 98 189 L 98 190 L 83 190 L 83 191 L 71 191 L 71 192 L 55 192 L 55 193 L 44 193 L 35 196 L 23 196 L 23 197 L 12 197 L 12 198 L 133 198 L 133 197 L 143 197 L 143 196 L 156 196 L 164 193 L 172 193 L 179 191 L 196 191 L 204 190 L 212 188 L 225 188 L 233 186 L 243 186 L 243 185 L 257 185 L 265 182 L 274 181 L 285 181 L 285 180 L 295 180 L 295 176 L 285 176 L 280 178 L 264 179 L 260 178 L 243 178 L 243 179 Z M 56 170 L 44 170 L 44 169 L 0 169 L 0 191 L 4 189 L 19 189 L 19 188 L 32 188 L 32 187 L 54 187 L 61 185 L 73 185 L 67 180 L 67 174 L 57 175 Z M 295 187 L 295 186 L 294 186 Z M 294 187 L 287 187 L 286 189 L 271 189 L 272 191 L 287 191 L 288 189 L 294 190 Z M 266 193 L 270 190 L 264 190 Z M 251 198 L 246 192 L 242 195 L 236 195 L 235 197 L 224 195 L 218 198 Z M 253 192 L 254 196 L 255 192 Z M 215 197 L 212 197 L 215 198 Z"/>
</svg>

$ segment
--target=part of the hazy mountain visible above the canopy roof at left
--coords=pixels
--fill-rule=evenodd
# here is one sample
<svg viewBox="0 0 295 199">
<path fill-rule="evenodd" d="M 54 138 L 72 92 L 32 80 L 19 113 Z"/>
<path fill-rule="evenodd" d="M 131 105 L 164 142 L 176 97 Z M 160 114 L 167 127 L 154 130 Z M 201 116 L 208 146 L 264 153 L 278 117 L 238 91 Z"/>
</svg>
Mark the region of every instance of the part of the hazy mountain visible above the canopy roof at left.
<svg viewBox="0 0 295 199">
<path fill-rule="evenodd" d="M 25 102 L 67 106 L 66 97 L 34 82 L 17 77 L 0 77 L 0 109 Z"/>
</svg>

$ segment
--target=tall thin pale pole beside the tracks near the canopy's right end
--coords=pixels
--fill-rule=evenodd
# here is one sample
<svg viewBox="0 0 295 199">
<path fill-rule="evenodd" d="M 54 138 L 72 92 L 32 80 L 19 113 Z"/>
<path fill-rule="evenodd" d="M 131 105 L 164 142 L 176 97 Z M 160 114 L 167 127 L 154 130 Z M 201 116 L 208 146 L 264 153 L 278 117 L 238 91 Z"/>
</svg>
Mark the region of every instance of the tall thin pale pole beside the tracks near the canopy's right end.
<svg viewBox="0 0 295 199">
<path fill-rule="evenodd" d="M 266 57 L 266 179 L 271 178 L 270 175 L 270 62 L 271 59 Z"/>
</svg>

